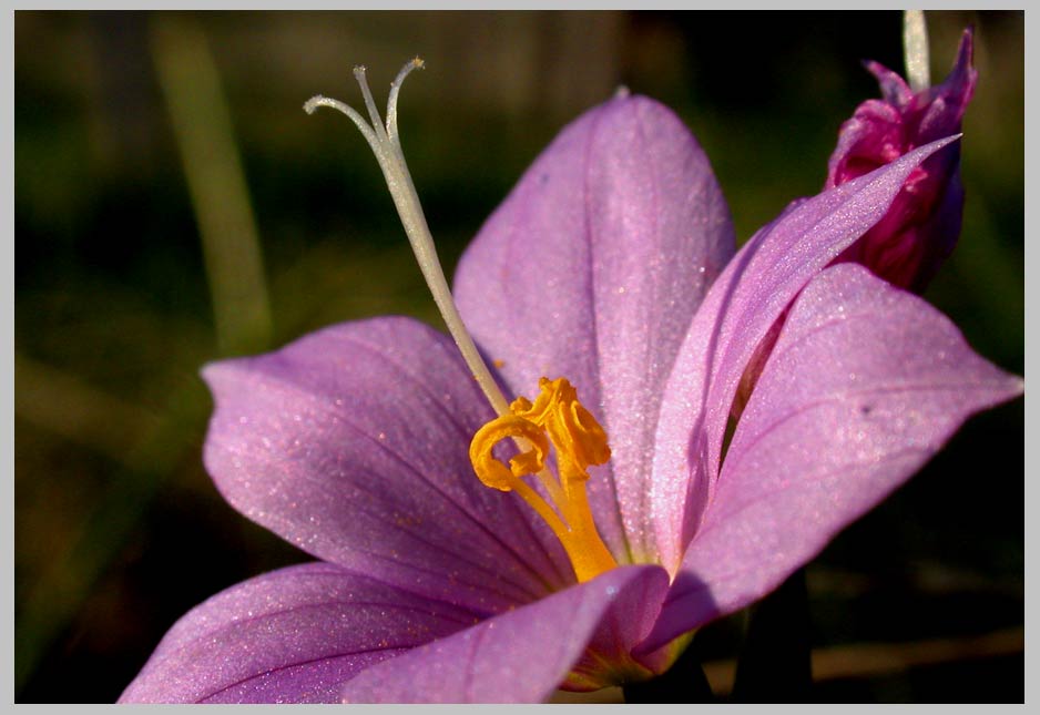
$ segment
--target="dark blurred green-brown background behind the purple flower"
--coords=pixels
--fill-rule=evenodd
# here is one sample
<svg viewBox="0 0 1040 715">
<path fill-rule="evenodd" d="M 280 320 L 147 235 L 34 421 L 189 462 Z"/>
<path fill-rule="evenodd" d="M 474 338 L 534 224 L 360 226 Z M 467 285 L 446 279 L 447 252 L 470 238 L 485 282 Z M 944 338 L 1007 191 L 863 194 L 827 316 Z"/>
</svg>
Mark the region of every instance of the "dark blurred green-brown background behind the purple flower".
<svg viewBox="0 0 1040 715">
<path fill-rule="evenodd" d="M 1023 16 L 929 13 L 932 81 L 977 29 L 965 231 L 926 297 L 1023 370 Z M 16 699 L 111 702 L 185 611 L 307 559 L 202 468 L 200 367 L 339 320 L 439 325 L 360 108 L 415 54 L 400 126 L 450 273 L 560 127 L 619 84 L 672 106 L 746 239 L 816 193 L 903 70 L 898 12 L 16 13 Z M 1020 702 L 1022 401 L 807 569 L 822 701 Z M 694 646 L 716 693 L 743 614 Z"/>
</svg>

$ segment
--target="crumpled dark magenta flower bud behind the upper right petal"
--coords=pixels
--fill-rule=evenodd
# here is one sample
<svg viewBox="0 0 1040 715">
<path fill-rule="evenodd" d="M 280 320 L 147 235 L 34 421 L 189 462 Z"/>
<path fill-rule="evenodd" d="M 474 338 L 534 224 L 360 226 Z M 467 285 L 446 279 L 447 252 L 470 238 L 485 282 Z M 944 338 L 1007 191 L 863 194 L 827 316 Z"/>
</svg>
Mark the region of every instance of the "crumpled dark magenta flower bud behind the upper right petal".
<svg viewBox="0 0 1040 715">
<path fill-rule="evenodd" d="M 883 99 L 867 100 L 842 125 L 838 144 L 827 163 L 825 188 L 871 172 L 917 146 L 959 133 L 978 79 L 971 53 L 972 31 L 968 28 L 946 81 L 918 92 L 897 73 L 868 62 L 866 67 L 877 78 Z M 910 174 L 885 217 L 840 259 L 860 263 L 889 283 L 921 293 L 957 243 L 963 203 L 960 143 L 956 142 Z"/>
</svg>

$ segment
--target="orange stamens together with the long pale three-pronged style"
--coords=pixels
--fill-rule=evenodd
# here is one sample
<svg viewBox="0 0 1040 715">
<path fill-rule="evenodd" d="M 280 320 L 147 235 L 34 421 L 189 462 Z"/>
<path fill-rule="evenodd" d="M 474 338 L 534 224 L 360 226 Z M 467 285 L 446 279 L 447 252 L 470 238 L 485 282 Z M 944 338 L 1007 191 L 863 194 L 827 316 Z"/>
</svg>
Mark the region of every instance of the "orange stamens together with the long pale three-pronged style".
<svg viewBox="0 0 1040 715">
<path fill-rule="evenodd" d="M 351 106 L 320 94 L 307 100 L 304 110 L 310 114 L 319 106 L 329 106 L 346 114 L 365 136 L 379 162 L 434 302 L 473 379 L 498 413 L 496 419 L 477 431 L 470 445 L 470 460 L 477 476 L 488 487 L 514 491 L 527 501 L 563 544 L 578 580 L 588 581 L 618 565 L 595 530 L 585 494 L 588 468 L 591 464 L 603 464 L 610 459 L 606 435 L 589 410 L 578 401 L 578 392 L 564 378 L 542 378 L 539 380 L 541 392 L 533 404 L 520 397 L 510 405 L 462 324 L 437 258 L 434 238 L 405 163 L 397 131 L 397 96 L 401 83 L 412 70 L 421 67 L 422 61 L 416 58 L 401 69 L 390 84 L 385 125 L 368 89 L 364 67 L 354 68 L 354 76 L 361 88 L 371 124 Z M 520 449 L 520 453 L 509 460 L 509 467 L 491 453 L 496 445 L 506 438 L 512 438 Z M 559 479 L 546 466 L 550 442 L 555 449 Z M 539 479 L 555 510 L 523 481 L 528 474 Z"/>
</svg>

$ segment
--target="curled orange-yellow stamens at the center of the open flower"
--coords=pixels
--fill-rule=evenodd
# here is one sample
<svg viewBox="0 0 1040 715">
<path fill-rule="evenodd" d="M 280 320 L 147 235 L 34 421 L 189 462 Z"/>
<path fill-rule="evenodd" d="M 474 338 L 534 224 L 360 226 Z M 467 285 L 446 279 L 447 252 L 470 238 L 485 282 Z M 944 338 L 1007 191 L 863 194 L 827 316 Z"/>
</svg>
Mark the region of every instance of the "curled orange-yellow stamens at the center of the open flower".
<svg viewBox="0 0 1040 715">
<path fill-rule="evenodd" d="M 563 544 L 578 580 L 589 581 L 618 565 L 595 530 L 585 493 L 589 467 L 610 459 L 606 432 L 578 401 L 577 390 L 565 378 L 543 377 L 538 386 L 541 392 L 534 402 L 517 398 L 508 415 L 477 431 L 469 458 L 486 486 L 517 492 L 538 512 Z M 508 466 L 491 453 L 507 438 L 521 449 Z M 559 481 L 546 467 L 550 442 L 557 452 Z M 523 481 L 528 474 L 542 481 L 555 510 Z"/>
</svg>

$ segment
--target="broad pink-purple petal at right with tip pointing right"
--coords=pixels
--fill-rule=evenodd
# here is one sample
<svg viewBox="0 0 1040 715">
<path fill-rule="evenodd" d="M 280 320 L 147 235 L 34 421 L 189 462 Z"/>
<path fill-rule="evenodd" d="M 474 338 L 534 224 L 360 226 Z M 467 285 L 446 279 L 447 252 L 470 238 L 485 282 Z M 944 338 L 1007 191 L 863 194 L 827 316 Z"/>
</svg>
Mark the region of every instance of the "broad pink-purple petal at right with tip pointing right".
<svg viewBox="0 0 1040 715">
<path fill-rule="evenodd" d="M 648 646 L 776 588 L 1022 381 L 852 264 L 794 304 Z"/>
</svg>

